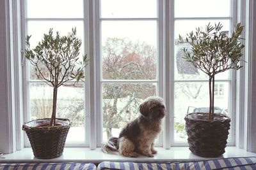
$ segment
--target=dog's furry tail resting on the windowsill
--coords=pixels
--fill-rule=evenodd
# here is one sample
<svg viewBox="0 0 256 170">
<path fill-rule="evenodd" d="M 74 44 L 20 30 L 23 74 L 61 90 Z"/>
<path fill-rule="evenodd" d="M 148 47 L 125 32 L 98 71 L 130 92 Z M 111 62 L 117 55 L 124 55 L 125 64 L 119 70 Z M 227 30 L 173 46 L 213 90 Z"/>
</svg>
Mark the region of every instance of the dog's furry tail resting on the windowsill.
<svg viewBox="0 0 256 170">
<path fill-rule="evenodd" d="M 118 154 L 118 138 L 111 137 L 108 139 L 107 143 L 101 146 L 101 150 L 105 153 Z"/>
</svg>

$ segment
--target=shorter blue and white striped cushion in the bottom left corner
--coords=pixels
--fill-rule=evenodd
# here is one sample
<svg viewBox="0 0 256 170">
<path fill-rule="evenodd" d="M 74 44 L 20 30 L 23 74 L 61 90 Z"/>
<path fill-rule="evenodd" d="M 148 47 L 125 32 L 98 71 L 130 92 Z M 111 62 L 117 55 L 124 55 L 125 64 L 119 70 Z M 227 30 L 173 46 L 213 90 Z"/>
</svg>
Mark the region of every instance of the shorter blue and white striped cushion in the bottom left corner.
<svg viewBox="0 0 256 170">
<path fill-rule="evenodd" d="M 0 164 L 0 170 L 95 170 L 92 163 L 22 163 Z"/>
</svg>

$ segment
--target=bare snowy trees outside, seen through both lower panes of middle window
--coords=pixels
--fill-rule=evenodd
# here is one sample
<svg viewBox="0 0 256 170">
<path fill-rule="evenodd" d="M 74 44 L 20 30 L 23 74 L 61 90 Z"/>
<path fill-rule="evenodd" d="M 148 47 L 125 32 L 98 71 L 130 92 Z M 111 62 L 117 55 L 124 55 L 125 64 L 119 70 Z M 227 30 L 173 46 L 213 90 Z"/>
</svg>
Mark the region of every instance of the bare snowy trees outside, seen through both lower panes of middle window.
<svg viewBox="0 0 256 170">
<path fill-rule="evenodd" d="M 106 80 L 156 79 L 156 48 L 129 39 L 108 38 L 102 47 L 102 77 Z M 107 138 L 138 114 L 138 106 L 156 95 L 152 83 L 106 83 L 103 85 L 103 127 Z"/>
</svg>

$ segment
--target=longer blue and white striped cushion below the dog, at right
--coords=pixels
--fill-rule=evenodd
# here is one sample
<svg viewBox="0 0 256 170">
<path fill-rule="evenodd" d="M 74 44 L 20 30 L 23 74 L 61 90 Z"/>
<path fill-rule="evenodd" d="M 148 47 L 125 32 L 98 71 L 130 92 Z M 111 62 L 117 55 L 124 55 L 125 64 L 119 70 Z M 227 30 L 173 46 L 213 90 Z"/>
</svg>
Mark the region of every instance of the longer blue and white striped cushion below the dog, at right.
<svg viewBox="0 0 256 170">
<path fill-rule="evenodd" d="M 210 169 L 256 169 L 256 157 L 240 157 L 228 159 L 213 159 L 186 163 L 135 163 L 135 162 L 101 162 L 97 167 L 102 169 L 175 169 L 175 170 L 210 170 Z"/>
</svg>

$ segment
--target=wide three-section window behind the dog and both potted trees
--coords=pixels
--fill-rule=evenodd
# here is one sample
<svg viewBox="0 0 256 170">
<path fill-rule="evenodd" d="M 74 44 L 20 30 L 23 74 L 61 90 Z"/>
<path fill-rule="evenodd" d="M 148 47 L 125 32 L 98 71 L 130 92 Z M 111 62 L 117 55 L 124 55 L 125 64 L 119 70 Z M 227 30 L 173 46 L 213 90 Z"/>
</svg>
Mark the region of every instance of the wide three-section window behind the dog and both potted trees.
<svg viewBox="0 0 256 170">
<path fill-rule="evenodd" d="M 179 34 L 186 36 L 195 27 L 204 27 L 209 22 L 221 22 L 223 31 L 228 34 L 236 23 L 236 17 L 233 16 L 236 13 L 234 1 L 211 2 L 24 1 L 22 10 L 26 15 L 22 37 L 32 35 L 31 46 L 35 46 L 50 28 L 66 34 L 72 27 L 76 27 L 77 34 L 83 41 L 81 54 L 94 51 L 90 60 L 95 64 L 90 65 L 93 68 L 90 70 L 95 73 L 86 76 L 86 81 L 95 81 L 93 97 L 97 109 L 90 112 L 92 101 L 87 92 L 92 89 L 86 83 L 79 83 L 77 87 L 69 87 L 67 83 L 58 92 L 57 115 L 70 118 L 73 123 L 68 133 L 67 145 L 90 146 L 90 143 L 96 141 L 97 146 L 100 146 L 109 137 L 118 136 L 120 129 L 138 116 L 138 106 L 143 99 L 154 95 L 169 97 L 165 95 L 168 88 L 170 94 L 173 94 L 168 98 L 173 107 L 168 110 L 170 120 L 164 120 L 167 124 L 163 128 L 163 134 L 170 133 L 170 138 L 164 141 L 164 135 L 161 134 L 156 141 L 157 146 L 163 146 L 164 143 L 168 146 L 188 145 L 184 117 L 191 108 L 207 110 L 209 107 L 208 79 L 207 75 L 182 58 L 180 48 L 188 45 L 179 43 Z M 170 6 L 166 7 L 165 3 L 170 3 Z M 164 13 L 166 8 L 170 11 L 168 16 Z M 95 13 L 90 14 L 88 9 L 94 9 Z M 164 34 L 166 28 L 170 29 L 170 33 Z M 91 34 L 95 43 L 90 46 L 88 35 Z M 170 47 L 170 53 L 164 53 L 166 46 Z M 170 62 L 166 63 L 168 57 Z M 166 64 L 170 67 L 170 77 L 165 76 L 168 70 Z M 33 76 L 33 69 L 28 62 L 24 64 L 25 121 L 49 117 L 51 113 L 51 87 Z M 218 97 L 215 101 L 216 108 L 225 111 L 230 117 L 234 116 L 231 113 L 234 113 L 232 89 L 235 88 L 235 77 L 232 71 L 218 74 L 214 87 Z M 166 87 L 166 84 L 170 84 L 170 87 Z M 96 120 L 90 119 L 90 115 L 96 117 Z M 97 132 L 97 136 L 92 136 L 92 131 Z M 234 131 L 234 124 L 231 131 Z M 228 143 L 234 145 L 234 135 L 230 136 Z M 28 142 L 26 145 L 29 145 Z"/>
</svg>

